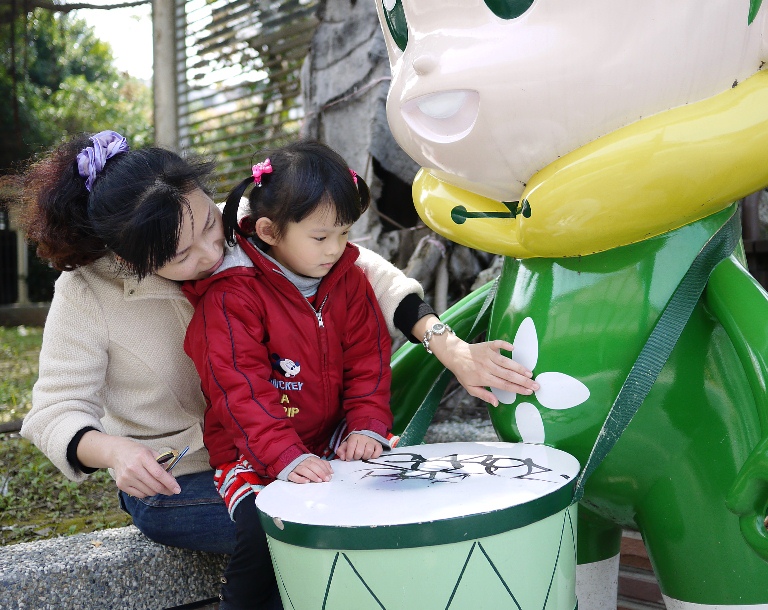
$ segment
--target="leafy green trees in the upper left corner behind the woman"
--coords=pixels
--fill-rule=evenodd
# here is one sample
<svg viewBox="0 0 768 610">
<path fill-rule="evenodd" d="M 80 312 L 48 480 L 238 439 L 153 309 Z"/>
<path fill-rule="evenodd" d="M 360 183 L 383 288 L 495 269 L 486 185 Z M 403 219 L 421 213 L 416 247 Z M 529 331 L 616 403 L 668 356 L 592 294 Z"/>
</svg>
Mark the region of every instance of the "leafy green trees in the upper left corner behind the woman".
<svg viewBox="0 0 768 610">
<path fill-rule="evenodd" d="M 11 18 L 4 5 L 0 40 L 0 170 L 83 131 L 151 142 L 151 89 L 117 71 L 84 20 L 40 8 Z"/>
</svg>

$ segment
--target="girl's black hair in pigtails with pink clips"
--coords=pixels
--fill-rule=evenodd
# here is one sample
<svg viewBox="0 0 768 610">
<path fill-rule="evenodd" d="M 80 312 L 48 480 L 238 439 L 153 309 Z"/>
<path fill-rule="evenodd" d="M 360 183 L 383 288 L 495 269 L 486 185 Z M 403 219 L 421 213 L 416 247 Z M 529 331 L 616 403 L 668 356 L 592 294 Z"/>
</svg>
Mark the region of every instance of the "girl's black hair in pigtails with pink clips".
<svg viewBox="0 0 768 610">
<path fill-rule="evenodd" d="M 301 140 L 266 151 L 262 159 L 270 160 L 272 171 L 263 173 L 260 184 L 251 190 L 248 215 L 254 223 L 259 218 L 269 218 L 277 239 L 284 235 L 289 222 L 301 222 L 321 205 L 334 206 L 336 223 L 340 225 L 354 223 L 368 208 L 368 185 L 351 172 L 341 155 L 325 144 Z M 252 184 L 254 177 L 249 176 L 227 197 L 224 235 L 229 245 L 234 244 L 235 233 L 249 236 L 238 225 L 237 210 Z"/>
</svg>

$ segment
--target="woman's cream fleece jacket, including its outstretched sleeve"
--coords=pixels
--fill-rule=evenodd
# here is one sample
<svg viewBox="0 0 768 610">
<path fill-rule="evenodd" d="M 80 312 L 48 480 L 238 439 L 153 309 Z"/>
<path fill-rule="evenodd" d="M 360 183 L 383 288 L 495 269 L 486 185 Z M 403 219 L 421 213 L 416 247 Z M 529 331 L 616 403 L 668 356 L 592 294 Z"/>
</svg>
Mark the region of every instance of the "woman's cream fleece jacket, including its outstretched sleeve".
<svg viewBox="0 0 768 610">
<path fill-rule="evenodd" d="M 360 248 L 390 332 L 394 312 L 418 282 Z M 67 446 L 82 428 L 124 436 L 155 451 L 182 449 L 177 476 L 209 470 L 203 446 L 205 401 L 183 343 L 192 306 L 180 285 L 153 275 L 119 274 L 111 256 L 62 273 L 43 331 L 39 379 L 21 434 L 68 478 Z"/>
</svg>

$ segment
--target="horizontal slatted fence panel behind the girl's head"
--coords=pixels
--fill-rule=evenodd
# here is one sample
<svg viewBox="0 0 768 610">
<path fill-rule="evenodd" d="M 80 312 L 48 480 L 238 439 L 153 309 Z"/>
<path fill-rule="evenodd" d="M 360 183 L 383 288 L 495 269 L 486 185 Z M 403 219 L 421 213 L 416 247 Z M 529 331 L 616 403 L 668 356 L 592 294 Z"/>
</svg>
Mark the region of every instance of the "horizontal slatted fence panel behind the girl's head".
<svg viewBox="0 0 768 610">
<path fill-rule="evenodd" d="M 248 175 L 254 155 L 298 136 L 301 66 L 317 0 L 177 3 L 179 144 L 218 162 L 217 190 Z"/>
</svg>

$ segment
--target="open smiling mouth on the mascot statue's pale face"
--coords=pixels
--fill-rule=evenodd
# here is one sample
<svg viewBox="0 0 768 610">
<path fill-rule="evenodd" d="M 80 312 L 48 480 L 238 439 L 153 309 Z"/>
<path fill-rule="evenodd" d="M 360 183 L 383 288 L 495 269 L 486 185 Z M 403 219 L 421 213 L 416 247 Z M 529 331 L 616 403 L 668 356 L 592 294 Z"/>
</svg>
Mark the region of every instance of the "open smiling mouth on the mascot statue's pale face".
<svg viewBox="0 0 768 610">
<path fill-rule="evenodd" d="M 409 100 L 402 111 L 408 126 L 425 140 L 455 142 L 472 130 L 479 108 L 477 91 L 454 89 Z"/>
</svg>

